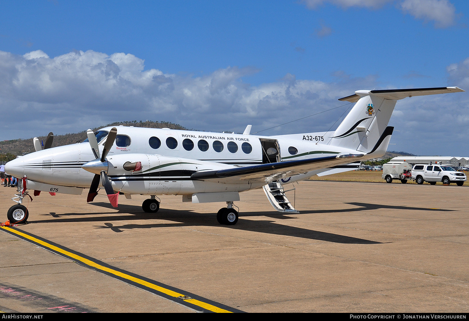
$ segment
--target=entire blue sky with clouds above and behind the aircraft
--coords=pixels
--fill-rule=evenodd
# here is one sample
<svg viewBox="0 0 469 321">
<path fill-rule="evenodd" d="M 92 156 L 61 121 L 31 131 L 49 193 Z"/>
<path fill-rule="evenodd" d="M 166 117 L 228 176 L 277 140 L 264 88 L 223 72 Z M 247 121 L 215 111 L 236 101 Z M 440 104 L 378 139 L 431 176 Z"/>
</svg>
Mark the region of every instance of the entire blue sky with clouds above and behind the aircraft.
<svg viewBox="0 0 469 321">
<path fill-rule="evenodd" d="M 463 0 L 0 5 L 0 112 L 18 128 L 2 140 L 134 119 L 254 132 L 361 89 L 469 90 Z M 467 93 L 401 100 L 389 149 L 469 156 L 468 102 Z M 328 130 L 342 113 L 263 134 Z"/>
</svg>

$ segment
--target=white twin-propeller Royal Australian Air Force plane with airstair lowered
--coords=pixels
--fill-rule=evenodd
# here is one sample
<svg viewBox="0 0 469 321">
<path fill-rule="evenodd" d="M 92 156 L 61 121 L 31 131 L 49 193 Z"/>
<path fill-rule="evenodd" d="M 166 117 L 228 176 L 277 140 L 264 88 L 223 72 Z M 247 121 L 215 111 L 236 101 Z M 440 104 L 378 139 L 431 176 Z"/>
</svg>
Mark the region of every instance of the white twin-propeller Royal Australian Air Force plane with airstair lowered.
<svg viewBox="0 0 469 321">
<path fill-rule="evenodd" d="M 21 203 L 27 190 L 80 195 L 90 188 L 88 202 L 103 186 L 114 207 L 123 193 L 151 195 L 145 212 L 157 212 L 156 195 L 182 195 L 183 202 L 226 202 L 217 214 L 220 224 L 233 225 L 239 192 L 264 188 L 280 212 L 298 213 L 288 202 L 283 185 L 313 175 L 357 168 L 357 160 L 380 157 L 393 133 L 388 126 L 398 99 L 447 92 L 458 87 L 360 90 L 341 98 L 356 102 L 335 131 L 279 136 L 208 133 L 190 130 L 118 126 L 96 133 L 88 130 L 81 143 L 45 148 L 35 138 L 36 152 L 9 161 L 6 172 L 18 177 L 17 203 L 8 210 L 10 223 L 25 222 Z"/>
</svg>

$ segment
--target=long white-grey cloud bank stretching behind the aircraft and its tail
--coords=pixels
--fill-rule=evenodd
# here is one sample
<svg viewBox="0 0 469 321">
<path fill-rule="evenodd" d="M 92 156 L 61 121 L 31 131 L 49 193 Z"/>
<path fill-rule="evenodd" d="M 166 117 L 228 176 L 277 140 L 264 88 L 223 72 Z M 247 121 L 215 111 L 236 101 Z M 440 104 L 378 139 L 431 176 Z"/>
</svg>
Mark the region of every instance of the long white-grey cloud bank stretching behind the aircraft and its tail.
<svg viewBox="0 0 469 321">
<path fill-rule="evenodd" d="M 447 70 L 449 85 L 469 88 L 469 58 Z M 1 132 L 1 139 L 45 136 L 49 131 L 60 135 L 147 119 L 210 131 L 242 132 L 252 124 L 254 133 L 343 105 L 337 99 L 356 90 L 383 88 L 375 75 L 358 78 L 340 70 L 329 83 L 291 74 L 257 86 L 242 81 L 257 71 L 227 67 L 203 76 L 181 76 L 145 69 L 144 60 L 132 54 L 89 50 L 50 58 L 42 51 L 24 55 L 0 51 L 0 113 L 9 129 Z M 401 131 L 394 133 L 392 142 L 398 145 L 391 148 L 444 155 L 446 138 L 461 138 L 455 146 L 469 150 L 468 100 L 466 93 L 400 100 L 389 125 Z M 457 114 L 448 106 L 451 110 L 457 106 Z M 348 107 L 261 133 L 334 130 Z M 427 144 L 426 139 L 435 135 L 445 139 Z"/>
</svg>

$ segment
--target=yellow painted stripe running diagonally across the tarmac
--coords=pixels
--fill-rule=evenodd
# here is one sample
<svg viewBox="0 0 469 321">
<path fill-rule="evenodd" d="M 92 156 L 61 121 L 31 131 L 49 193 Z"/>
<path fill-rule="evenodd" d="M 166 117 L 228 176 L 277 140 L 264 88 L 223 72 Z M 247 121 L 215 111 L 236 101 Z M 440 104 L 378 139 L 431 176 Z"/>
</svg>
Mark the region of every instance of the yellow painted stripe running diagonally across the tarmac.
<svg viewBox="0 0 469 321">
<path fill-rule="evenodd" d="M 69 258 L 72 258 L 74 260 L 77 260 L 77 261 L 80 261 L 80 262 L 84 263 L 85 265 L 88 265 L 88 266 L 93 267 L 95 269 L 106 272 L 107 274 L 113 274 L 113 275 L 119 276 L 122 279 L 126 279 L 126 280 L 129 280 L 131 282 L 141 284 L 141 285 L 143 285 L 147 288 L 153 289 L 153 290 L 158 291 L 160 293 L 164 293 L 167 296 L 178 299 L 178 301 L 174 300 L 175 302 L 181 303 L 181 301 L 179 301 L 179 300 L 183 300 L 184 302 L 193 304 L 194 306 L 199 306 L 199 307 L 201 307 L 205 310 L 211 311 L 211 312 L 215 312 L 215 313 L 232 313 L 232 311 L 225 310 L 223 308 L 220 308 L 218 306 L 214 306 L 214 305 L 212 305 L 210 303 L 207 303 L 207 302 L 200 301 L 198 299 L 190 298 L 189 296 L 188 296 L 189 298 L 184 299 L 184 297 L 186 296 L 185 294 L 182 294 L 182 293 L 170 290 L 170 289 L 166 289 L 166 288 L 161 287 L 157 284 L 154 284 L 154 283 L 145 281 L 143 279 L 140 279 L 138 277 L 126 274 L 124 272 L 118 271 L 118 270 L 113 269 L 111 267 L 105 267 L 101 264 L 98 264 L 97 262 L 86 259 L 86 258 L 84 258 L 84 257 L 82 257 L 82 256 L 80 256 L 76 253 L 69 252 L 67 250 L 64 250 L 61 247 L 55 246 L 53 244 L 50 244 L 50 243 L 45 242 L 43 240 L 40 240 L 36 237 L 33 237 L 29 234 L 23 233 L 20 230 L 12 229 L 12 228 L 9 228 L 7 226 L 1 226 L 1 228 L 7 230 L 10 233 L 16 234 L 16 235 L 21 236 L 23 238 L 26 238 L 26 239 L 28 239 L 28 240 L 30 240 L 30 241 L 38 244 L 38 245 L 42 245 L 45 248 L 51 249 L 54 252 L 62 253 L 64 255 L 66 255 L 67 257 L 69 257 Z"/>
</svg>

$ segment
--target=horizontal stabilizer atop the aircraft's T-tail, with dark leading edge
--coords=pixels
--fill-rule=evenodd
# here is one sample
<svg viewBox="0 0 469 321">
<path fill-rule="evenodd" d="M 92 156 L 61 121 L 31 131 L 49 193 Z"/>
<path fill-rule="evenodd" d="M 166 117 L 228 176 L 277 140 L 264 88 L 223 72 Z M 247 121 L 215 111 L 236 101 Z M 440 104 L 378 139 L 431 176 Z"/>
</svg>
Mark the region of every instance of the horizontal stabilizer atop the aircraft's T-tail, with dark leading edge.
<svg viewBox="0 0 469 321">
<path fill-rule="evenodd" d="M 411 88 L 411 89 L 383 89 L 383 90 L 358 90 L 354 95 L 350 95 L 344 98 L 340 98 L 341 101 L 356 102 L 361 97 L 368 96 L 370 94 L 376 95 L 383 99 L 404 99 L 406 97 L 413 96 L 425 96 L 425 95 L 436 95 L 440 93 L 449 92 L 464 92 L 458 87 L 435 87 L 435 88 Z"/>
</svg>

